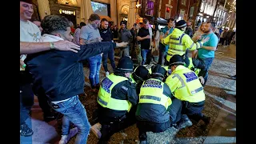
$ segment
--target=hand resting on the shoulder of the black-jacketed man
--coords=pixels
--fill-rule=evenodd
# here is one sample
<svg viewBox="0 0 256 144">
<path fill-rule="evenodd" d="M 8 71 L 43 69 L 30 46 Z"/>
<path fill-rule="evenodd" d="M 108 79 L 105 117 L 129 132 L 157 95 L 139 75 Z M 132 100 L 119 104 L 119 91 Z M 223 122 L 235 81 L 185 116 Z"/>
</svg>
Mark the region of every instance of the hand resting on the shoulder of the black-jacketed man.
<svg viewBox="0 0 256 144">
<path fill-rule="evenodd" d="M 73 51 L 74 53 L 78 53 L 78 50 L 80 50 L 80 46 L 69 41 L 54 42 L 54 48 L 56 50 L 64 50 L 64 51 L 70 50 L 70 51 Z"/>
</svg>

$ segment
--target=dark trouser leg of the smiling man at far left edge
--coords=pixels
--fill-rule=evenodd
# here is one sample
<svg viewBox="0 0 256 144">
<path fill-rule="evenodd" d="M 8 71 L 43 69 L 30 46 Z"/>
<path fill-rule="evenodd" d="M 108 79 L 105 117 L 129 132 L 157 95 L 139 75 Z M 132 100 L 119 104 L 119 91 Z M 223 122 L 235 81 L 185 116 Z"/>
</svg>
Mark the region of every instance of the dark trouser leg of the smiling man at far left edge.
<svg viewBox="0 0 256 144">
<path fill-rule="evenodd" d="M 20 125 L 30 117 L 30 110 L 34 105 L 34 94 L 30 83 L 20 86 Z"/>
</svg>

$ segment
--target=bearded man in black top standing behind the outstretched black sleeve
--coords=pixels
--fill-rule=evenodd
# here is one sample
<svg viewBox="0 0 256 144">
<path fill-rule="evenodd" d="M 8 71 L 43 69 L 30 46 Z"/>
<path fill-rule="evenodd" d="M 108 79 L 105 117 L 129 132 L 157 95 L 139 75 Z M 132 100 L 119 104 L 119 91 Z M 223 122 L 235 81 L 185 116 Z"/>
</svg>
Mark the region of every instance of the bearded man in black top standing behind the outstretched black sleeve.
<svg viewBox="0 0 256 144">
<path fill-rule="evenodd" d="M 102 42 L 113 42 L 113 34 L 109 27 L 109 22 L 106 20 L 106 18 L 102 18 L 101 26 L 98 28 L 99 34 L 101 34 Z M 114 63 L 114 49 L 106 52 L 102 56 L 103 61 L 103 68 L 106 72 L 106 77 L 110 74 L 110 71 L 107 68 L 107 58 L 110 59 L 110 64 L 112 66 L 112 69 L 114 71 L 115 69 L 115 63 Z"/>
</svg>

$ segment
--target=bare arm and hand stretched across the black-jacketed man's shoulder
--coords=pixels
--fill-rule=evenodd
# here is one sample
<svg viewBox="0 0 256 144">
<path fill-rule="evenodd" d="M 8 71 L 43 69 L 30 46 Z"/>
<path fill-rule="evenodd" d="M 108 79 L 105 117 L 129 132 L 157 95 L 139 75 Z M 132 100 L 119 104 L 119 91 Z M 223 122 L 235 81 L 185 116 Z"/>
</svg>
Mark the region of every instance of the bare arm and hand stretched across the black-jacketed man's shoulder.
<svg viewBox="0 0 256 144">
<path fill-rule="evenodd" d="M 78 53 L 80 46 L 69 41 L 53 42 L 56 50 L 70 50 Z M 20 42 L 20 54 L 34 54 L 50 50 L 50 42 Z"/>
</svg>

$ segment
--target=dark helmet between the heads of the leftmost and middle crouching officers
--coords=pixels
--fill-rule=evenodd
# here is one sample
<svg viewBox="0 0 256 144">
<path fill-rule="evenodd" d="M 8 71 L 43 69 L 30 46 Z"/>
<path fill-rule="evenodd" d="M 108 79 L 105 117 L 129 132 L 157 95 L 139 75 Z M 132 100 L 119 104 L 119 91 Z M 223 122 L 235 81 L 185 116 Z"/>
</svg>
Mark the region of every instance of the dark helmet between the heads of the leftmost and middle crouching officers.
<svg viewBox="0 0 256 144">
<path fill-rule="evenodd" d="M 133 73 L 133 78 L 140 81 L 146 81 L 146 79 L 149 77 L 149 74 L 150 72 L 146 69 L 145 66 L 138 66 Z"/>
</svg>

